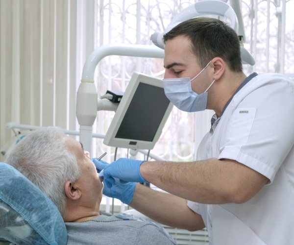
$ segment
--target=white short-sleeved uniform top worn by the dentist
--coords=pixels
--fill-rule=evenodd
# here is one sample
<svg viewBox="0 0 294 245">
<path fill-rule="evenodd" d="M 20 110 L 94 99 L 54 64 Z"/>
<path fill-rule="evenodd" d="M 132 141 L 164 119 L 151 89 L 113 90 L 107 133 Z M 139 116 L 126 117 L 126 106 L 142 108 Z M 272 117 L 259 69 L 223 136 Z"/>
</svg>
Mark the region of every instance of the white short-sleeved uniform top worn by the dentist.
<svg viewBox="0 0 294 245">
<path fill-rule="evenodd" d="M 236 160 L 270 182 L 243 204 L 187 205 L 200 214 L 213 245 L 294 244 L 294 82 L 255 76 L 203 138 L 197 160 Z"/>
</svg>

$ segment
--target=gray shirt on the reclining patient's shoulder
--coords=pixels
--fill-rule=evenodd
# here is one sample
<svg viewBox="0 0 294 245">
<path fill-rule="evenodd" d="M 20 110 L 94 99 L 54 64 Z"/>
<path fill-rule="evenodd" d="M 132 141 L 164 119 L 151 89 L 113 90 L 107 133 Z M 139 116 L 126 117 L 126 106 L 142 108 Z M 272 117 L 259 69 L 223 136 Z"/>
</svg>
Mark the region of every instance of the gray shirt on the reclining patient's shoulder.
<svg viewBox="0 0 294 245">
<path fill-rule="evenodd" d="M 66 222 L 65 224 L 68 230 L 68 245 L 175 244 L 172 237 L 159 224 L 151 221 L 102 214 L 90 221 Z M 150 239 L 160 243 L 150 243 Z"/>
</svg>

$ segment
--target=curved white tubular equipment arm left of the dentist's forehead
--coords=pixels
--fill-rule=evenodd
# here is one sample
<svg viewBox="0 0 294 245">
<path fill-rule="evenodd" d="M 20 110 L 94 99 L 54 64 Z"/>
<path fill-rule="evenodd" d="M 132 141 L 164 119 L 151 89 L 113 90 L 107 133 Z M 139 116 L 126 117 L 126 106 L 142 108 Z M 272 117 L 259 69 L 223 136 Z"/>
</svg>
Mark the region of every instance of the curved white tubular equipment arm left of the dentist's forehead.
<svg viewBox="0 0 294 245">
<path fill-rule="evenodd" d="M 91 155 L 92 128 L 97 117 L 98 110 L 116 109 L 109 101 L 98 99 L 97 89 L 94 84 L 94 73 L 98 62 L 108 55 L 122 55 L 135 57 L 163 58 L 164 51 L 154 46 L 109 44 L 95 49 L 87 58 L 80 86 L 76 98 L 76 117 L 80 125 L 80 139 L 84 149 Z"/>
</svg>

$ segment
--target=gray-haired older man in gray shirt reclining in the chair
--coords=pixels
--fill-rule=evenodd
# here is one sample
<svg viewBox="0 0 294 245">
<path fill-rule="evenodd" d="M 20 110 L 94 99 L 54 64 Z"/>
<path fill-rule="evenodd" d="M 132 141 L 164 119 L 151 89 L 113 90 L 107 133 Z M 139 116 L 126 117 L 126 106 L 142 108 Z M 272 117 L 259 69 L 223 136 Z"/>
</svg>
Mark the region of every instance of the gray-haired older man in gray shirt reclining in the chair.
<svg viewBox="0 0 294 245">
<path fill-rule="evenodd" d="M 31 132 L 7 158 L 58 207 L 68 244 L 175 244 L 154 222 L 99 213 L 103 183 L 80 142 L 60 128 Z"/>
</svg>

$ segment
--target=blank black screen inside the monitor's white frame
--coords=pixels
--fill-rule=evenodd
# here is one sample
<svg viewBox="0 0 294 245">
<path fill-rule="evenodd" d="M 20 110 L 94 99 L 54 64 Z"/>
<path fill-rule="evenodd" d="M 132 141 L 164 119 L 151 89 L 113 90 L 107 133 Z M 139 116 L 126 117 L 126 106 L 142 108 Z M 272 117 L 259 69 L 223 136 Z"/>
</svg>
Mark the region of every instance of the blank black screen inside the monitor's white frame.
<svg viewBox="0 0 294 245">
<path fill-rule="evenodd" d="M 163 88 L 140 82 L 115 138 L 152 142 L 169 103 Z"/>
</svg>

